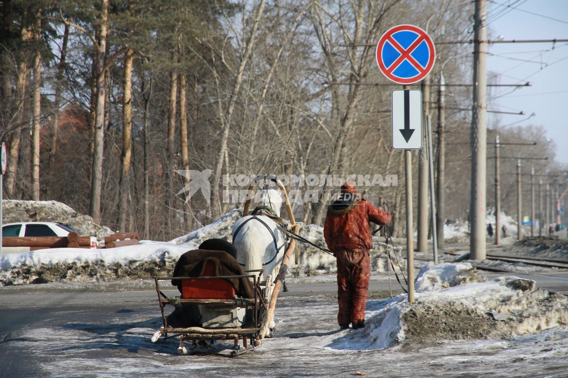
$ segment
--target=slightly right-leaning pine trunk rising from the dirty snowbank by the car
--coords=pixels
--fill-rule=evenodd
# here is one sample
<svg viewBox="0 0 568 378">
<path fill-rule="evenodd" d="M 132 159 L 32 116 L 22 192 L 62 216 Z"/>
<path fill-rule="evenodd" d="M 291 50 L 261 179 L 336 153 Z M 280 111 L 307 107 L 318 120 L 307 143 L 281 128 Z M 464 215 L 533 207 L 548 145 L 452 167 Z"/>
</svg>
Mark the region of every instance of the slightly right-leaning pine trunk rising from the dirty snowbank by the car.
<svg viewBox="0 0 568 378">
<path fill-rule="evenodd" d="M 97 43 L 97 105 L 95 107 L 95 135 L 93 139 L 93 175 L 91 179 L 91 201 L 89 214 L 95 223 L 101 222 L 101 189 L 103 171 L 103 148 L 105 142 L 105 54 L 108 22 L 108 0 L 101 0 L 101 19 L 98 25 Z"/>
</svg>

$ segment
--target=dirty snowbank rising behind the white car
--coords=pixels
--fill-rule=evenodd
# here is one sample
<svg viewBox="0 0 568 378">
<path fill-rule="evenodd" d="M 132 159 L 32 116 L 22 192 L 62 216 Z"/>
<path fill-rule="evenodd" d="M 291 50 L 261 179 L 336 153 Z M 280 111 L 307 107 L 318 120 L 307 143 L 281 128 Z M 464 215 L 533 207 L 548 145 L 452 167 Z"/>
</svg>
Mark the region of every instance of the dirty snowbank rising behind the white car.
<svg viewBox="0 0 568 378">
<path fill-rule="evenodd" d="M 93 222 L 89 215 L 77 213 L 65 203 L 57 201 L 2 201 L 2 222 L 60 222 L 72 224 L 81 235 L 97 236 L 102 240 L 112 230 Z"/>
</svg>

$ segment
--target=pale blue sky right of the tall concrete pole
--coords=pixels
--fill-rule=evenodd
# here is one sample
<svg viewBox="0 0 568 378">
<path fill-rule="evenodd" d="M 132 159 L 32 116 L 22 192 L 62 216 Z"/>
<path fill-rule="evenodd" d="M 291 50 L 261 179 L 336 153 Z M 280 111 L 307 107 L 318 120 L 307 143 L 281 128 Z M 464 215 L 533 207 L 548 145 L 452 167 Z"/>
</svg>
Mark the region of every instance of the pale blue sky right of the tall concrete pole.
<svg viewBox="0 0 568 378">
<path fill-rule="evenodd" d="M 512 6 L 499 15 L 505 8 L 496 3 Z M 568 0 L 495 0 L 488 2 L 487 21 L 490 39 L 500 35 L 504 40 L 568 39 Z M 487 71 L 500 74 L 499 83 L 528 81 L 532 87 L 513 92 L 512 88 L 494 89 L 491 95 L 496 98 L 489 102 L 488 108 L 523 111 L 526 116 L 500 115 L 499 124 L 520 121 L 515 125 L 544 126 L 548 138 L 556 142 L 556 159 L 568 163 L 568 43 L 556 43 L 552 48 L 552 43 L 491 45 L 488 51 L 494 55 L 487 57 Z M 536 115 L 526 119 L 531 113 Z M 495 116 L 489 117 L 491 127 Z"/>
</svg>

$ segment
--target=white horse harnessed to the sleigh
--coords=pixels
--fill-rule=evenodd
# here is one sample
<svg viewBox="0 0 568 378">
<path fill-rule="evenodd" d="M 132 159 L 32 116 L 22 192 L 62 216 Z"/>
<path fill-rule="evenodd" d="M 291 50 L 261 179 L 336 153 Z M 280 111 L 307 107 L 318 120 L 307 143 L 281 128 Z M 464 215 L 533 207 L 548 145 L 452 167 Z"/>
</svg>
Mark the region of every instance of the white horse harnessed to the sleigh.
<svg viewBox="0 0 568 378">
<path fill-rule="evenodd" d="M 282 196 L 279 190 L 269 189 L 262 195 L 258 205 L 269 206 L 270 209 L 280 216 L 282 207 Z M 259 278 L 265 280 L 268 275 L 274 280 L 284 257 L 286 249 L 285 240 L 276 228 L 276 223 L 268 216 L 256 215 L 262 222 L 272 230 L 270 232 L 265 224 L 257 219 L 250 219 L 252 215 L 244 216 L 233 226 L 233 244 L 237 249 L 237 261 L 244 265 L 244 270 L 264 269 L 264 274 Z M 250 219 L 250 220 L 248 220 Z M 246 223 L 245 223 L 246 222 Z M 243 224 L 243 227 L 241 227 Z M 235 232 L 239 229 L 237 235 Z M 278 247 L 276 247 L 276 245 Z M 272 296 L 274 286 L 268 284 L 269 298 Z M 269 329 L 265 337 L 270 337 L 275 328 L 274 318 L 270 318 Z"/>
</svg>

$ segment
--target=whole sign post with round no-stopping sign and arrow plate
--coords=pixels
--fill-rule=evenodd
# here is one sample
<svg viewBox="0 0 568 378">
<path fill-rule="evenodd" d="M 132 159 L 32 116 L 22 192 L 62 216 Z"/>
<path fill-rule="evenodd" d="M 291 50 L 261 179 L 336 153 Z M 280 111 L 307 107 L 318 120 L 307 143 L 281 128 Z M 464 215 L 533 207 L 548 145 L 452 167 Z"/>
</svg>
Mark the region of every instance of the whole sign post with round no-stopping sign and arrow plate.
<svg viewBox="0 0 568 378">
<path fill-rule="evenodd" d="M 414 302 L 414 230 L 412 223 L 412 151 L 422 148 L 422 92 L 410 84 L 427 77 L 436 52 L 428 34 L 414 25 L 398 25 L 379 39 L 375 52 L 381 73 L 403 90 L 392 91 L 392 148 L 404 150 L 408 303 Z"/>
</svg>

